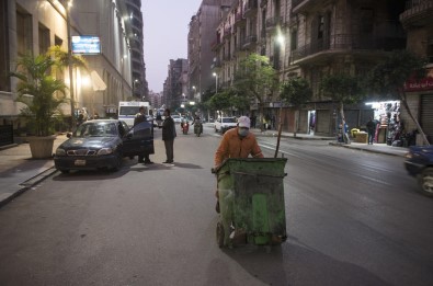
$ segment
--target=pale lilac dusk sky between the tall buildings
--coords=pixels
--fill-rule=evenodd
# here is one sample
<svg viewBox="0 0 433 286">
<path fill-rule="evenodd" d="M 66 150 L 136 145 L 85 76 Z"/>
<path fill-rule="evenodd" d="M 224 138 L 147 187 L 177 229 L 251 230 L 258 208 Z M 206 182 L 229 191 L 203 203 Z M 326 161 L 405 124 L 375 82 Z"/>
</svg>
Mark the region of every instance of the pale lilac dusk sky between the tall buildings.
<svg viewBox="0 0 433 286">
<path fill-rule="evenodd" d="M 202 0 L 141 0 L 146 79 L 162 91 L 170 59 L 187 58 L 190 20 Z"/>
</svg>

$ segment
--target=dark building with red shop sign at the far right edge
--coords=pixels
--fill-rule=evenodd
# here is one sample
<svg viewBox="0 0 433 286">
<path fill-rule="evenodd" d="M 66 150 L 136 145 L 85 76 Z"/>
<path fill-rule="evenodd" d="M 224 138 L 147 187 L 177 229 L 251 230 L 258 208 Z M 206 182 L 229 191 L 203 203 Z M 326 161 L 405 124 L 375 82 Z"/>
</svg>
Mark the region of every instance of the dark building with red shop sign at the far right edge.
<svg viewBox="0 0 433 286">
<path fill-rule="evenodd" d="M 420 125 L 433 142 L 433 1 L 411 0 L 406 2 L 400 22 L 407 31 L 407 48 L 429 59 L 428 78 L 417 84 L 407 84 L 408 103 L 419 118 Z M 415 129 L 415 125 L 407 122 L 407 129 Z"/>
</svg>

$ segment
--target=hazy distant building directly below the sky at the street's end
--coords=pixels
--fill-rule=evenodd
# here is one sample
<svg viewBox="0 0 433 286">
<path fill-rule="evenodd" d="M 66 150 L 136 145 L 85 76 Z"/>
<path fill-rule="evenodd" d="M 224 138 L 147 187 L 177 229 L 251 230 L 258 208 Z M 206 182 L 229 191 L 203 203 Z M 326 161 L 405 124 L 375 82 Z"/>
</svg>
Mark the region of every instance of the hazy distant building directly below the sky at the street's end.
<svg viewBox="0 0 433 286">
<path fill-rule="evenodd" d="M 171 111 L 178 110 L 186 101 L 189 66 L 187 59 L 170 59 L 168 76 L 163 83 L 163 100 Z"/>
</svg>

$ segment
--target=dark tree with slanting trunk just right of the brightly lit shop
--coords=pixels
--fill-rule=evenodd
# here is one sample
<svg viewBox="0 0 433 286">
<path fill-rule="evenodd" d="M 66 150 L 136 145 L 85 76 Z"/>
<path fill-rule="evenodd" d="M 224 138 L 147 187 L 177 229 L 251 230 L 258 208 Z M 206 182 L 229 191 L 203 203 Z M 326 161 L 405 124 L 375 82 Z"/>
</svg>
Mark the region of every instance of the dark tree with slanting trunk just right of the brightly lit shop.
<svg viewBox="0 0 433 286">
<path fill-rule="evenodd" d="M 380 99 L 400 100 L 410 118 L 417 125 L 425 145 L 430 145 L 418 119 L 413 116 L 404 92 L 404 83 L 425 77 L 428 60 L 408 50 L 391 53 L 384 61 L 376 65 L 368 75 L 368 87 Z"/>
</svg>

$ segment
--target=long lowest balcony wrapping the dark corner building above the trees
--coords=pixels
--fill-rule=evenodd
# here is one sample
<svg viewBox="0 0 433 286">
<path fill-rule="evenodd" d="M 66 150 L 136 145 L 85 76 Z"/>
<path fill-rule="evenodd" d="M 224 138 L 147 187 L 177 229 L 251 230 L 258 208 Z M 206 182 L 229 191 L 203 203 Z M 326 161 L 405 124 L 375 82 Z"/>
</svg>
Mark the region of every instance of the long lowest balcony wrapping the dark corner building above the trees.
<svg viewBox="0 0 433 286">
<path fill-rule="evenodd" d="M 329 50 L 392 50 L 406 47 L 406 39 L 401 37 L 360 37 L 351 34 L 340 34 L 330 41 L 315 41 L 293 50 L 293 59 L 301 58 Z"/>
</svg>

